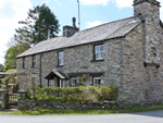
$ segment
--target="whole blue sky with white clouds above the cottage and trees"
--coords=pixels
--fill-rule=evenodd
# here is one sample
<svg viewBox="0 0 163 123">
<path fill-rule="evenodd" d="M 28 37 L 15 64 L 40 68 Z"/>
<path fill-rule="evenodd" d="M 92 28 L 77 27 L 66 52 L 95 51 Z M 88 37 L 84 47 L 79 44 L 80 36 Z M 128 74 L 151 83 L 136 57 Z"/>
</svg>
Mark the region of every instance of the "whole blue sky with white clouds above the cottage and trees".
<svg viewBox="0 0 163 123">
<path fill-rule="evenodd" d="M 158 0 L 163 5 L 163 0 Z M 103 23 L 129 17 L 134 15 L 133 0 L 79 0 L 80 30 Z M 72 17 L 76 17 L 78 26 L 77 0 L 0 0 L 0 63 L 4 63 L 8 41 L 14 36 L 18 21 L 27 17 L 27 12 L 36 5 L 46 3 L 60 23 L 60 35 L 64 25 L 72 25 Z M 163 8 L 161 8 L 163 21 Z"/>
</svg>

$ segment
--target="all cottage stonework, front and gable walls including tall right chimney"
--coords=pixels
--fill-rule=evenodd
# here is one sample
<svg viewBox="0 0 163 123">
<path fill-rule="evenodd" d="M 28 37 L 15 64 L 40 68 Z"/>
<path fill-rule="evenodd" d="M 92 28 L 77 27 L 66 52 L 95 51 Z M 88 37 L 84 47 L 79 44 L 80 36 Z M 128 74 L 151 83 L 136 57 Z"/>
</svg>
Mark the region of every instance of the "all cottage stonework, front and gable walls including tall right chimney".
<svg viewBox="0 0 163 123">
<path fill-rule="evenodd" d="M 58 51 L 37 54 L 37 65 L 32 67 L 32 57 L 26 57 L 27 67 L 22 69 L 22 58 L 17 59 L 17 83 L 24 89 L 36 77 L 47 87 L 45 78 L 53 69 L 64 73 L 103 72 L 102 84 L 118 87 L 118 100 L 124 103 L 150 103 L 163 100 L 163 28 L 160 26 L 159 5 L 147 0 L 135 0 L 135 17 L 141 24 L 125 38 L 101 41 L 104 45 L 104 61 L 92 62 L 93 46 L 87 44 L 64 51 L 64 66 L 58 66 Z M 140 3 L 142 2 L 143 3 Z M 154 0 L 151 0 L 154 1 Z M 139 16 L 138 13 L 141 13 Z M 41 56 L 41 72 L 40 72 Z M 146 63 L 146 64 L 145 64 Z M 159 65 L 158 65 L 159 64 Z M 160 67 L 159 67 L 160 66 Z M 40 74 L 41 73 L 41 74 Z M 40 77 L 41 76 L 41 77 Z M 51 81 L 57 86 L 55 81 Z M 92 76 L 86 75 L 85 85 L 92 84 Z M 70 81 L 65 81 L 65 87 Z"/>
</svg>

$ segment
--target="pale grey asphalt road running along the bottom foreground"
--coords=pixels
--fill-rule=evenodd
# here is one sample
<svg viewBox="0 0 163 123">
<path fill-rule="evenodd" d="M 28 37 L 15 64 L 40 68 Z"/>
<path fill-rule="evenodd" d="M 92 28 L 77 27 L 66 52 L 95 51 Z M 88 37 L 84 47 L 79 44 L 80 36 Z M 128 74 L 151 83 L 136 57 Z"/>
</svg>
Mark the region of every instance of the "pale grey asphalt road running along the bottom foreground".
<svg viewBox="0 0 163 123">
<path fill-rule="evenodd" d="M 0 115 L 0 123 L 163 123 L 163 110 L 102 115 Z"/>
</svg>

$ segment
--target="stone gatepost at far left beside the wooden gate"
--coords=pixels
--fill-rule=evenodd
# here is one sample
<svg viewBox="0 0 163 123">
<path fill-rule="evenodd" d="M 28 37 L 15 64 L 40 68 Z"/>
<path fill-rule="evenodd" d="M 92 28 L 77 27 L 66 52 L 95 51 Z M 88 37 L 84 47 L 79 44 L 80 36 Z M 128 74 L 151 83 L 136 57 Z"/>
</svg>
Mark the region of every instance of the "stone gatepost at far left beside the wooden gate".
<svg viewBox="0 0 163 123">
<path fill-rule="evenodd" d="M 9 90 L 0 90 L 0 110 L 9 108 Z"/>
</svg>

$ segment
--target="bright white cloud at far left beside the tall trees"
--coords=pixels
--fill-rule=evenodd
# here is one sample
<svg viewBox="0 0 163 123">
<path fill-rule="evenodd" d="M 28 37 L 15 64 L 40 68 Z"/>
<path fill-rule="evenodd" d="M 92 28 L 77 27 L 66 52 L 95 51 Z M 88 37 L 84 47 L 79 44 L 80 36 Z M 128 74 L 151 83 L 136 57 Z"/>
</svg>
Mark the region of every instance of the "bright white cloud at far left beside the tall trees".
<svg viewBox="0 0 163 123">
<path fill-rule="evenodd" d="M 32 8 L 29 0 L 0 0 L 0 63 L 4 62 L 8 40 L 20 26 L 18 21 L 26 19 L 29 8 Z"/>
</svg>

